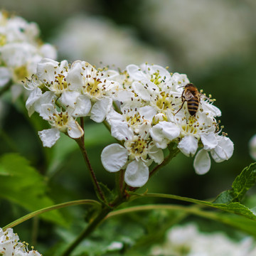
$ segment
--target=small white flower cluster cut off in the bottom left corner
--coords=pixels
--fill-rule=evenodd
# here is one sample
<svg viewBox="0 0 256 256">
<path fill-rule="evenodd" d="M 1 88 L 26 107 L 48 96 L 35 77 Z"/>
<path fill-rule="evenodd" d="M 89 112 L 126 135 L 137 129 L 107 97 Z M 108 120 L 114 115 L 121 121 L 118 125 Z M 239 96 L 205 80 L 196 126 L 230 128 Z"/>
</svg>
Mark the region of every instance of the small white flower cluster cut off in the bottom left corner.
<svg viewBox="0 0 256 256">
<path fill-rule="evenodd" d="M 28 250 L 28 243 L 18 241 L 18 235 L 12 228 L 6 231 L 0 228 L 0 255 L 41 256 L 33 247 L 32 250 Z"/>
</svg>

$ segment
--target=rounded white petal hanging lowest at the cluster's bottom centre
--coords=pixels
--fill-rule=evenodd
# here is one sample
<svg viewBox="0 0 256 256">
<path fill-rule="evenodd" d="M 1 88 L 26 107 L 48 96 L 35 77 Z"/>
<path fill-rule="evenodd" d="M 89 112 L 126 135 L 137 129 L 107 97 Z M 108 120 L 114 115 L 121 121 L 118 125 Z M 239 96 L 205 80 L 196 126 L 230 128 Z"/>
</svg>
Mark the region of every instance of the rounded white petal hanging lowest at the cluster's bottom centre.
<svg viewBox="0 0 256 256">
<path fill-rule="evenodd" d="M 124 181 L 134 188 L 143 186 L 149 180 L 149 167 L 143 161 L 132 161 L 127 166 Z"/>
</svg>

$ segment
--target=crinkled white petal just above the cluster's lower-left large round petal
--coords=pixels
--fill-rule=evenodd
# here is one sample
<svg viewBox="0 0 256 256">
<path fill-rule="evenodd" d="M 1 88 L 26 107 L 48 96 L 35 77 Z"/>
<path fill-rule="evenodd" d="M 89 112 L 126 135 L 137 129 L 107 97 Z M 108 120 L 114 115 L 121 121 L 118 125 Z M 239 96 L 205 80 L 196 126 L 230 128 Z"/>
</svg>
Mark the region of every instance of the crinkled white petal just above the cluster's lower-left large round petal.
<svg viewBox="0 0 256 256">
<path fill-rule="evenodd" d="M 112 137 L 122 141 L 132 139 L 133 132 L 126 122 L 112 120 L 111 135 Z"/>
</svg>

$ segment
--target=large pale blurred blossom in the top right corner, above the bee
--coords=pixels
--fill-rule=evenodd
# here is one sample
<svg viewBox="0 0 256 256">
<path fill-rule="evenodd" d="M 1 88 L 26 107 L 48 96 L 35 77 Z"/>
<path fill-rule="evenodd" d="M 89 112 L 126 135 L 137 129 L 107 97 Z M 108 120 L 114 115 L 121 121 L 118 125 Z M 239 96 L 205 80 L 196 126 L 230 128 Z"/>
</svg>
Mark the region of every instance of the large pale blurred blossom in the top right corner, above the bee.
<svg viewBox="0 0 256 256">
<path fill-rule="evenodd" d="M 245 3 L 205 0 L 146 0 L 144 29 L 164 42 L 176 64 L 194 73 L 223 60 L 243 61 L 254 49 L 255 9 Z"/>
</svg>

